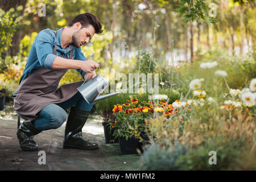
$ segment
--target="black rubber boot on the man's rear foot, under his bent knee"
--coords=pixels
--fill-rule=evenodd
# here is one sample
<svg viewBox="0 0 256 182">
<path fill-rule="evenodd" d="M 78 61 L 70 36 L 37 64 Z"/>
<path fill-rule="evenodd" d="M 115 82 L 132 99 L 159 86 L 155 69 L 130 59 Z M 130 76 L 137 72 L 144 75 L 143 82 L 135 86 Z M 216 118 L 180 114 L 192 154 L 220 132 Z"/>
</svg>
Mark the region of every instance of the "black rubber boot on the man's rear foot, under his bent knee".
<svg viewBox="0 0 256 182">
<path fill-rule="evenodd" d="M 38 150 L 38 145 L 34 141 L 34 135 L 39 133 L 41 133 L 41 131 L 36 129 L 31 121 L 24 121 L 17 131 L 20 148 L 25 151 Z"/>
</svg>

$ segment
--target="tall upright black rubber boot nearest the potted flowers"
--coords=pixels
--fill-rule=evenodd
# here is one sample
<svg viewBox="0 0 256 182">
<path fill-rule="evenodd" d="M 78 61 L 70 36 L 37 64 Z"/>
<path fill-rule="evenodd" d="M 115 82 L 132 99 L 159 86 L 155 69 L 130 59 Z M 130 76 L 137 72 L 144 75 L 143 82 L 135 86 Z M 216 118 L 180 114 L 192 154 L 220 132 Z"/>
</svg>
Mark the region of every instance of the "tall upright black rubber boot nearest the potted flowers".
<svg viewBox="0 0 256 182">
<path fill-rule="evenodd" d="M 65 127 L 63 148 L 79 148 L 82 150 L 96 150 L 98 148 L 97 143 L 90 143 L 82 138 L 82 127 L 89 114 L 89 110 L 81 110 L 73 106 L 71 107 Z"/>
</svg>

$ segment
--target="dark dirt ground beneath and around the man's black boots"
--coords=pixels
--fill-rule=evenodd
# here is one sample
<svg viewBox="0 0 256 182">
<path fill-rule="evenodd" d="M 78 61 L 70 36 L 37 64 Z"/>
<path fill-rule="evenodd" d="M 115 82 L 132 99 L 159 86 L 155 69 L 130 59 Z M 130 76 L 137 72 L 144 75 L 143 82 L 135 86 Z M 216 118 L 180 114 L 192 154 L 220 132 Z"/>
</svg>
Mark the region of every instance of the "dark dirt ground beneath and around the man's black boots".
<svg viewBox="0 0 256 182">
<path fill-rule="evenodd" d="M 98 143 L 99 149 L 94 151 L 63 149 L 65 123 L 34 137 L 38 151 L 22 151 L 16 138 L 16 118 L 15 112 L 0 117 L 0 170 L 139 170 L 139 155 L 120 155 L 118 143 L 105 143 L 98 115 L 89 118 L 82 129 L 85 139 Z M 46 164 L 39 164 L 39 151 L 46 152 Z"/>
</svg>

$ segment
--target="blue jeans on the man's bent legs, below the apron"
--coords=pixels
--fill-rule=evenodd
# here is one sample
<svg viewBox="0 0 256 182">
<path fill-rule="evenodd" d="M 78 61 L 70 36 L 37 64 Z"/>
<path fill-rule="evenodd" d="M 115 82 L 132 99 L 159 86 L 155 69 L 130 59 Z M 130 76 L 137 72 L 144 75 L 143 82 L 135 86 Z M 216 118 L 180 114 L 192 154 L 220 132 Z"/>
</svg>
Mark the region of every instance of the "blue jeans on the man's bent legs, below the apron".
<svg viewBox="0 0 256 182">
<path fill-rule="evenodd" d="M 37 114 L 40 118 L 35 119 L 34 126 L 38 130 L 50 130 L 57 129 L 67 120 L 67 110 L 71 106 L 75 106 L 81 110 L 91 110 L 93 104 L 88 104 L 80 94 L 77 92 L 75 96 L 69 98 L 69 100 L 58 103 L 49 104 L 44 107 Z"/>
</svg>

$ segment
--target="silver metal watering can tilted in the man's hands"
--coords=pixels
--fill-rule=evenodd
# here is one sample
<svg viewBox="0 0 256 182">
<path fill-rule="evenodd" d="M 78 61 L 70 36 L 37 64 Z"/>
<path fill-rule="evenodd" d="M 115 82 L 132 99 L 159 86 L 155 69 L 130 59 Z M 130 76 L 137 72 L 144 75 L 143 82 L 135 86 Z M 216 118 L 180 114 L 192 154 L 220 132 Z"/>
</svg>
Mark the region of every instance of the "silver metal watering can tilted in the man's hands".
<svg viewBox="0 0 256 182">
<path fill-rule="evenodd" d="M 89 104 L 119 94 L 119 92 L 115 92 L 100 96 L 100 94 L 104 92 L 104 90 L 109 86 L 110 81 L 100 76 L 100 74 L 86 82 L 87 78 L 88 75 L 82 85 L 77 88 L 77 90 L 79 90 L 82 97 L 84 97 L 85 101 Z"/>
</svg>

